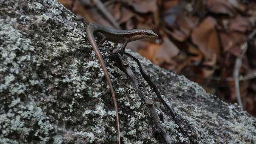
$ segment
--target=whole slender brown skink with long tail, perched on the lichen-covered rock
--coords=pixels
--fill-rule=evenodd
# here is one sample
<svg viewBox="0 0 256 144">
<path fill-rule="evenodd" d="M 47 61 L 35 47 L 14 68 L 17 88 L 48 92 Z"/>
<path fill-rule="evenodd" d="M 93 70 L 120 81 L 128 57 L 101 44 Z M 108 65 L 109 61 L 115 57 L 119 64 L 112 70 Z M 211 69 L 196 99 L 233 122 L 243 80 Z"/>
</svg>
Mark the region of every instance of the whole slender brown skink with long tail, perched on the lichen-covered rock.
<svg viewBox="0 0 256 144">
<path fill-rule="evenodd" d="M 75 17 L 74 17 L 75 18 Z M 103 69 L 104 75 L 106 77 L 106 80 L 109 85 L 109 89 L 112 95 L 112 99 L 114 102 L 114 108 L 117 116 L 117 132 L 118 132 L 118 143 L 121 144 L 120 140 L 120 125 L 119 125 L 119 116 L 118 116 L 118 108 L 117 108 L 117 102 L 116 97 L 114 93 L 114 88 L 111 83 L 109 73 L 106 69 L 106 65 L 103 61 L 103 58 L 100 54 L 100 51 L 98 49 L 98 46 L 95 42 L 94 35 L 97 35 L 102 38 L 100 41 L 100 44 L 103 44 L 106 40 L 115 42 L 115 43 L 122 43 L 122 49 L 121 49 L 121 55 L 125 51 L 125 47 L 128 42 L 136 41 L 139 39 L 146 39 L 146 38 L 157 38 L 158 35 L 154 33 L 152 30 L 144 30 L 144 29 L 133 29 L 133 30 L 115 30 L 112 28 L 105 27 L 103 25 L 100 25 L 98 23 L 92 22 L 89 23 L 85 18 L 75 18 L 76 21 L 82 21 L 84 25 L 87 25 L 86 28 L 86 35 L 89 39 L 89 42 L 92 46 L 92 49 L 94 50 L 95 54 L 97 55 L 98 60 L 100 61 L 100 65 Z"/>
</svg>

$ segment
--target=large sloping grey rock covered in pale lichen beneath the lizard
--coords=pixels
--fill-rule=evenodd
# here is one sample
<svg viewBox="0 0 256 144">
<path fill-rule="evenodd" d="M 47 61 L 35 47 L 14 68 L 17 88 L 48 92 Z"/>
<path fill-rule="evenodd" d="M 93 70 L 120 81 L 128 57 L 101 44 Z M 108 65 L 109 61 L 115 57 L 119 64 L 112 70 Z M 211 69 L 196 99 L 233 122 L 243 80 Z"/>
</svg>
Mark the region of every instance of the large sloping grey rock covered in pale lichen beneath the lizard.
<svg viewBox="0 0 256 144">
<path fill-rule="evenodd" d="M 55 0 L 0 0 L 0 143 L 116 143 L 111 95 L 81 22 Z M 86 40 L 84 40 L 86 39 Z M 163 138 L 131 81 L 100 47 L 117 95 L 124 144 L 160 144 Z M 132 53 L 129 51 L 129 53 Z M 194 143 L 256 143 L 256 119 L 207 94 L 184 76 L 136 53 Z M 189 144 L 156 95 L 161 125 L 177 144 Z"/>
</svg>

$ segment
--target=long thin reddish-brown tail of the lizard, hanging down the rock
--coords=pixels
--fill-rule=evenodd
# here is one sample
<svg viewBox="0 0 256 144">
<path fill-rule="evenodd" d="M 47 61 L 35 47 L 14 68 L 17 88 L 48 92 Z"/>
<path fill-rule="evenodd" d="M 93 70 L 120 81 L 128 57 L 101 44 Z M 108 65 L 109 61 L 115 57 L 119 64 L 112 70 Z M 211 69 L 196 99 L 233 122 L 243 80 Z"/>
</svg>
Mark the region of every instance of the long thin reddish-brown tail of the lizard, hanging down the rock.
<svg viewBox="0 0 256 144">
<path fill-rule="evenodd" d="M 109 73 L 106 69 L 106 65 L 103 61 L 103 58 L 100 54 L 100 51 L 97 47 L 97 44 L 95 42 L 95 38 L 94 38 L 94 32 L 95 32 L 95 28 L 92 26 L 92 25 L 88 25 L 87 28 L 86 28 L 86 35 L 89 39 L 89 42 L 92 46 L 92 49 L 94 50 L 95 54 L 97 55 L 97 58 L 98 60 L 100 61 L 100 65 L 101 65 L 101 68 L 103 69 L 103 72 L 104 72 L 104 75 L 105 75 L 105 78 L 109 84 L 109 89 L 110 89 L 110 92 L 111 92 L 111 95 L 112 95 L 112 99 L 113 99 L 113 102 L 114 102 L 114 108 L 115 108 L 115 111 L 116 111 L 116 116 L 117 116 L 117 132 L 118 132 L 118 137 L 117 137 L 117 140 L 118 140 L 118 144 L 121 144 L 121 140 L 120 140 L 120 125 L 119 125 L 119 115 L 118 115 L 118 108 L 117 108 L 117 101 L 116 101 L 116 96 L 115 96 L 115 92 L 114 92 L 114 87 L 111 83 L 111 80 L 110 80 L 110 77 L 109 77 Z"/>
</svg>

